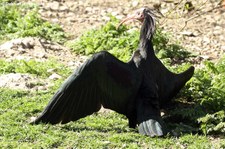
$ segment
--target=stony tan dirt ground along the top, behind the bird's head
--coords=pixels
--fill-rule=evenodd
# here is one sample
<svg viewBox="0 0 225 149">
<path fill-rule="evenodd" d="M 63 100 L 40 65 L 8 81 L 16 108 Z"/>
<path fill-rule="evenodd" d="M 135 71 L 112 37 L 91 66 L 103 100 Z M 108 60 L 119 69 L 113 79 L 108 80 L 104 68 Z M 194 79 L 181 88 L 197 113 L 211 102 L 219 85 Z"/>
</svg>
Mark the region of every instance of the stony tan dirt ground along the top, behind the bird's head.
<svg viewBox="0 0 225 149">
<path fill-rule="evenodd" d="M 159 9 L 164 17 L 158 26 L 175 41 L 204 59 L 218 59 L 225 52 L 225 7 L 220 0 L 36 0 L 40 13 L 62 25 L 72 38 L 109 20 L 111 13 L 124 18 L 143 6 Z M 190 8 L 185 6 L 189 5 Z M 186 9 L 185 9 L 186 8 Z"/>
</svg>

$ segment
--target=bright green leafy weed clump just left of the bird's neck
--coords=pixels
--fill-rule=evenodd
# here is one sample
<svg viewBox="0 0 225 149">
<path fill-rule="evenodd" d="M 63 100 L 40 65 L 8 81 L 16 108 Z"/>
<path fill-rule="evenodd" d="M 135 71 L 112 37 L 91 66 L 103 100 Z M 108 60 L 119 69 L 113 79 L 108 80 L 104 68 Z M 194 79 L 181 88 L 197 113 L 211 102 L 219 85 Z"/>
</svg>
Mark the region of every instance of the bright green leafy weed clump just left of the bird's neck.
<svg viewBox="0 0 225 149">
<path fill-rule="evenodd" d="M 122 60 L 128 60 L 138 44 L 138 33 L 129 30 L 126 26 L 116 29 L 119 21 L 111 17 L 111 21 L 100 29 L 93 29 L 84 33 L 75 41 L 69 41 L 67 46 L 74 52 L 84 55 L 93 54 L 102 50 L 113 53 Z"/>
</svg>

